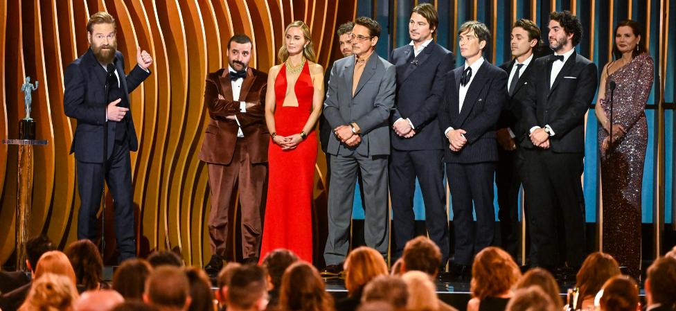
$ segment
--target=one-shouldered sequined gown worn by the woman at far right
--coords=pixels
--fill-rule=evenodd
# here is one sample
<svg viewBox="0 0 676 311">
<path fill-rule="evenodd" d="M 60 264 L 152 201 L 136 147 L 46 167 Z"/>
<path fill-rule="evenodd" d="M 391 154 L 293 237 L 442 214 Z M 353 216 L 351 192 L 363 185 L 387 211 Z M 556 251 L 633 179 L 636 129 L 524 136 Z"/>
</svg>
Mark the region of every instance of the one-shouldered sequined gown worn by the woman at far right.
<svg viewBox="0 0 676 311">
<path fill-rule="evenodd" d="M 628 274 L 634 278 L 641 272 L 641 185 L 648 145 L 644 109 L 653 77 L 650 55 L 638 55 L 606 77 L 602 102 L 610 118 L 610 81 L 615 81 L 613 123 L 627 131 L 611 150 L 601 150 L 603 251 L 627 267 Z M 600 148 L 607 135 L 599 126 Z"/>
</svg>

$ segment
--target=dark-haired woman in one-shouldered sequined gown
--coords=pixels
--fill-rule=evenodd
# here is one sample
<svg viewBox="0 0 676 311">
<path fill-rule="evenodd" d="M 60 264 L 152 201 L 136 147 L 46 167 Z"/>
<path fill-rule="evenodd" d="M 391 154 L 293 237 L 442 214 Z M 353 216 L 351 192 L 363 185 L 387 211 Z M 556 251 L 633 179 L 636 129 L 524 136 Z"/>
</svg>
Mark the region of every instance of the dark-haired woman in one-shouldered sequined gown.
<svg viewBox="0 0 676 311">
<path fill-rule="evenodd" d="M 638 279 L 641 273 L 641 184 L 648 144 L 644 109 L 654 69 L 636 21 L 621 21 L 615 28 L 613 54 L 614 60 L 607 63 L 601 73 L 595 109 L 601 125 L 598 144 L 601 148 L 603 251 Z M 612 82 L 616 87 L 611 127 Z"/>
</svg>

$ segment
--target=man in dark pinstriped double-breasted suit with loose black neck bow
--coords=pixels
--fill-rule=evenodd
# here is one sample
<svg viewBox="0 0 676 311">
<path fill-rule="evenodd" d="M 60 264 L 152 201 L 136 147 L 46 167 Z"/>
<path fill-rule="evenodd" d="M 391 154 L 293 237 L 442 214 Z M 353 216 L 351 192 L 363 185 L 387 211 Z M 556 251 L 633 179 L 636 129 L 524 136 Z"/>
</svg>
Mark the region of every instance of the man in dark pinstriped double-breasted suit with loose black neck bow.
<svg viewBox="0 0 676 311">
<path fill-rule="evenodd" d="M 507 101 L 507 73 L 483 59 L 490 41 L 485 24 L 465 22 L 458 35 L 465 64 L 446 75 L 439 125 L 448 141 L 444 161 L 454 215 L 451 274 L 468 278 L 474 255 L 492 245 L 494 238 L 495 130 Z M 476 228 L 472 224 L 472 203 Z"/>
</svg>

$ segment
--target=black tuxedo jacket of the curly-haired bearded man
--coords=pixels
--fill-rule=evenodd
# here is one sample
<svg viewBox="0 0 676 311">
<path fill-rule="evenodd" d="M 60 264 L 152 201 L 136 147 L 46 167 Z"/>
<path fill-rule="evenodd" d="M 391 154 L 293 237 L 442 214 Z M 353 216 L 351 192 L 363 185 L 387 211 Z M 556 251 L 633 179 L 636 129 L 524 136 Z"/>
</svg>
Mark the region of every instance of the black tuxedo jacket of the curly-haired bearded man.
<svg viewBox="0 0 676 311">
<path fill-rule="evenodd" d="M 596 64 L 573 52 L 551 89 L 549 77 L 553 55 L 535 60 L 524 99 L 526 132 L 533 126 L 549 125 L 554 136 L 549 139 L 553 152 L 585 152 L 585 114 L 596 94 L 598 75 Z M 522 146 L 535 148 L 530 139 Z"/>
</svg>

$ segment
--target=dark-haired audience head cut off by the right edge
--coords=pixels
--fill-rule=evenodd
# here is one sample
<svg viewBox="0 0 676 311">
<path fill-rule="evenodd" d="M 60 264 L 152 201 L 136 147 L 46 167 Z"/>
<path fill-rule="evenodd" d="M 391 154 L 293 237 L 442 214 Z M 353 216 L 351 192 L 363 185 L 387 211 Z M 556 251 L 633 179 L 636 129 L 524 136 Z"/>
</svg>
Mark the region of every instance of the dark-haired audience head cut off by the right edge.
<svg viewBox="0 0 676 311">
<path fill-rule="evenodd" d="M 676 304 L 676 258 L 660 257 L 648 267 L 646 311 L 673 311 Z"/>
</svg>

